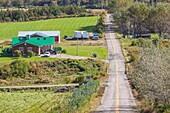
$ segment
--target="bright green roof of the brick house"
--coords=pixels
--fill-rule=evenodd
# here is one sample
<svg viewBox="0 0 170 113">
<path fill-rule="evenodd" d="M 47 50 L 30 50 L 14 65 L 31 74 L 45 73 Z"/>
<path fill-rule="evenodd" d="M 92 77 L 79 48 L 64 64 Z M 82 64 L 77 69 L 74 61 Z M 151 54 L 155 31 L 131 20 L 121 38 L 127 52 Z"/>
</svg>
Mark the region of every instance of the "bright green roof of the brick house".
<svg viewBox="0 0 170 113">
<path fill-rule="evenodd" d="M 54 45 L 54 37 L 12 38 L 12 46 L 16 46 L 22 43 L 29 43 L 39 47 L 43 45 Z"/>
</svg>

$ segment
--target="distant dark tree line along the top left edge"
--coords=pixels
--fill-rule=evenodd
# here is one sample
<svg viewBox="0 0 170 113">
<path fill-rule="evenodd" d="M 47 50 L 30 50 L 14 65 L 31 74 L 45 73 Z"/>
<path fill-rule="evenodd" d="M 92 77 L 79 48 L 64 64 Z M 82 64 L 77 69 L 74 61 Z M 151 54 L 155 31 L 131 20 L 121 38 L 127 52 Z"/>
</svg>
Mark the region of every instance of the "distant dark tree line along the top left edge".
<svg viewBox="0 0 170 113">
<path fill-rule="evenodd" d="M 1 7 L 32 7 L 75 4 L 78 6 L 100 7 L 107 4 L 108 0 L 0 0 Z"/>
</svg>

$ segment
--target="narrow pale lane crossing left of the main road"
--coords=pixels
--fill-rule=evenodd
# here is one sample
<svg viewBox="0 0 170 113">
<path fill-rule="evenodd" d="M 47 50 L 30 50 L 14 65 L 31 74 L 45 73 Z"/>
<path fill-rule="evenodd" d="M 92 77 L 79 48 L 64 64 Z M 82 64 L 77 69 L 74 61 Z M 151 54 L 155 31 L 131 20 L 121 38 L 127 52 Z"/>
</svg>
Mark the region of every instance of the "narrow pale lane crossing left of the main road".
<svg viewBox="0 0 170 113">
<path fill-rule="evenodd" d="M 2 86 L 0 89 L 27 89 L 27 88 L 48 88 L 48 87 L 67 87 L 78 86 L 79 84 L 57 84 L 57 85 L 35 85 L 35 86 Z"/>
</svg>

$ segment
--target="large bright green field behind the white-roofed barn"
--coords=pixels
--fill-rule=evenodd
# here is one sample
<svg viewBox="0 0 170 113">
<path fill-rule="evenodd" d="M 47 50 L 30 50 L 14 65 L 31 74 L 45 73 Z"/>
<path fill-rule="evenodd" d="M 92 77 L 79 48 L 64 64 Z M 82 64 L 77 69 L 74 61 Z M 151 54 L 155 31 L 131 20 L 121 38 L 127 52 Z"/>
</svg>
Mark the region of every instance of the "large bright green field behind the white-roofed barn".
<svg viewBox="0 0 170 113">
<path fill-rule="evenodd" d="M 11 39 L 17 36 L 18 31 L 36 30 L 60 30 L 61 37 L 64 35 L 73 36 L 75 30 L 92 32 L 96 23 L 97 16 L 0 23 L 0 40 Z"/>
</svg>

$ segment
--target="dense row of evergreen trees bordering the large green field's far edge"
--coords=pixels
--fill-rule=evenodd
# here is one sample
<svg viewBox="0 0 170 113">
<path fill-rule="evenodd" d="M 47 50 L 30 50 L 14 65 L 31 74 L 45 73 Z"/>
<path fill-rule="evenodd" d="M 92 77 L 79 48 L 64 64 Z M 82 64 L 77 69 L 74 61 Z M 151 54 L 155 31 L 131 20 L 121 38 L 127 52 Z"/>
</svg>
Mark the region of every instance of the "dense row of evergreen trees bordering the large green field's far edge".
<svg viewBox="0 0 170 113">
<path fill-rule="evenodd" d="M 85 8 L 76 5 L 70 6 L 43 6 L 29 8 L 28 10 L 1 10 L 0 22 L 11 21 L 34 21 L 40 19 L 51 19 L 65 17 L 67 15 L 83 16 L 87 12 Z"/>
</svg>

